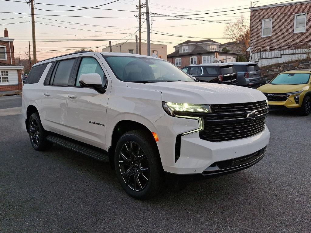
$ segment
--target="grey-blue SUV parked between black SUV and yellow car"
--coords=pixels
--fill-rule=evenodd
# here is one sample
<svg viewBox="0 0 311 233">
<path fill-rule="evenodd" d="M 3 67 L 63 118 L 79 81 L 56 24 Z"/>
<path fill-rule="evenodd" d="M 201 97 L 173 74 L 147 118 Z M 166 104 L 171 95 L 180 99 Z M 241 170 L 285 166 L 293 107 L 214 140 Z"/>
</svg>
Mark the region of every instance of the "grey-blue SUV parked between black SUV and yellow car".
<svg viewBox="0 0 311 233">
<path fill-rule="evenodd" d="M 230 62 L 238 74 L 239 86 L 258 86 L 261 83 L 260 68 L 253 62 Z"/>
</svg>

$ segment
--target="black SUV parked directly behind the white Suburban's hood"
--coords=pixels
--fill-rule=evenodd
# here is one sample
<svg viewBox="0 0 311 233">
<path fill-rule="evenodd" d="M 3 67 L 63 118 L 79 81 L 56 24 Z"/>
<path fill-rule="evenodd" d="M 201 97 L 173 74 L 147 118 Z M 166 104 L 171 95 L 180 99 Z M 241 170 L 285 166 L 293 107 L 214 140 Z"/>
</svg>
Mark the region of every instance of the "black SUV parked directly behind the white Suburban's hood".
<svg viewBox="0 0 311 233">
<path fill-rule="evenodd" d="M 182 70 L 201 82 L 238 85 L 237 73 L 232 64 L 209 63 L 190 65 Z"/>
</svg>

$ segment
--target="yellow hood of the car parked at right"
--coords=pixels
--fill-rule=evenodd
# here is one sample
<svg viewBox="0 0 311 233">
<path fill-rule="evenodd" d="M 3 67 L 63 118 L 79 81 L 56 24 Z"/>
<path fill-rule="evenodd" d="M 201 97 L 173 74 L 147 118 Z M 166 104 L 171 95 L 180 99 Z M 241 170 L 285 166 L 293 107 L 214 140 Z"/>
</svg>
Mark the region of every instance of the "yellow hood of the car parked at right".
<svg viewBox="0 0 311 233">
<path fill-rule="evenodd" d="M 298 85 L 265 84 L 261 87 L 258 87 L 257 90 L 260 90 L 263 93 L 289 93 L 289 92 L 301 91 L 306 88 L 308 89 L 307 84 L 298 84 Z"/>
</svg>

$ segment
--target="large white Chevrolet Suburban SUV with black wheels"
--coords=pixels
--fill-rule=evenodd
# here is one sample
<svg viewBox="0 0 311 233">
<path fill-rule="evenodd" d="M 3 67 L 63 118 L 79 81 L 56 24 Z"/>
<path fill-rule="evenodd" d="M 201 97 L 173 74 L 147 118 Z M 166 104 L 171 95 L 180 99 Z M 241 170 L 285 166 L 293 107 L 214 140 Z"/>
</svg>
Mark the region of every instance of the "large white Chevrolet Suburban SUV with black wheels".
<svg viewBox="0 0 311 233">
<path fill-rule="evenodd" d="M 201 83 L 173 64 L 125 53 L 72 53 L 29 73 L 22 110 L 35 150 L 59 144 L 110 162 L 134 198 L 253 166 L 266 152 L 267 98 Z"/>
</svg>

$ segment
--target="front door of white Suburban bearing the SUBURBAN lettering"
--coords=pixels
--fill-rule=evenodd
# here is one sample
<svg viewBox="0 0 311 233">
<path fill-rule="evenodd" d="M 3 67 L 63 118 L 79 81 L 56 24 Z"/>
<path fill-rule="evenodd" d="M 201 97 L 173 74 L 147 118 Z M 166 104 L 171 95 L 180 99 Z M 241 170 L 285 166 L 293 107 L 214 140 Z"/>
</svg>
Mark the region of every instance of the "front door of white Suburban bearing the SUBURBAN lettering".
<svg viewBox="0 0 311 233">
<path fill-rule="evenodd" d="M 97 73 L 102 80 L 107 79 L 102 66 L 96 55 L 79 58 L 72 86 L 68 88 L 67 119 L 71 138 L 106 149 L 106 109 L 109 91 L 106 87 L 106 92 L 101 94 L 94 89 L 80 87 L 79 84 L 82 74 Z M 110 85 L 107 81 L 105 83 Z"/>
</svg>

